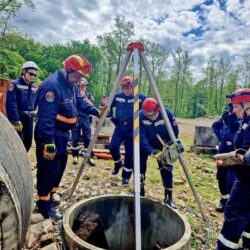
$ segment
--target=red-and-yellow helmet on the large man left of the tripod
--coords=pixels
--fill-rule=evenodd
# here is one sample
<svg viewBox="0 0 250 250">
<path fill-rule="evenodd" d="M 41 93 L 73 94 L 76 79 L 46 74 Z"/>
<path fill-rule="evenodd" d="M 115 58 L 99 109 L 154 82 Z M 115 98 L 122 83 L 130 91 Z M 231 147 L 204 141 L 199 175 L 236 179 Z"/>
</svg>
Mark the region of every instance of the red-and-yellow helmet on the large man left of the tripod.
<svg viewBox="0 0 250 250">
<path fill-rule="evenodd" d="M 75 71 L 83 76 L 90 76 L 92 74 L 92 65 L 82 55 L 72 55 L 66 58 L 63 62 L 64 68 L 67 71 Z"/>
</svg>

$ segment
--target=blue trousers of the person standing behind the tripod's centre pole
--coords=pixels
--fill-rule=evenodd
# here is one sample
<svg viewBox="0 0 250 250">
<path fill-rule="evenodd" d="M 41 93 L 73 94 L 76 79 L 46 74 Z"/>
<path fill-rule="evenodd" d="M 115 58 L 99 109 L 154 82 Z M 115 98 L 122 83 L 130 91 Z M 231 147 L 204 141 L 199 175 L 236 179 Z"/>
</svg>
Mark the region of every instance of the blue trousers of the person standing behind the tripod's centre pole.
<svg viewBox="0 0 250 250">
<path fill-rule="evenodd" d="M 125 159 L 122 170 L 123 178 L 130 178 L 133 171 L 133 129 L 128 125 L 118 125 L 115 127 L 111 142 L 109 144 L 109 151 L 115 162 L 121 159 L 120 146 L 124 142 Z"/>
</svg>

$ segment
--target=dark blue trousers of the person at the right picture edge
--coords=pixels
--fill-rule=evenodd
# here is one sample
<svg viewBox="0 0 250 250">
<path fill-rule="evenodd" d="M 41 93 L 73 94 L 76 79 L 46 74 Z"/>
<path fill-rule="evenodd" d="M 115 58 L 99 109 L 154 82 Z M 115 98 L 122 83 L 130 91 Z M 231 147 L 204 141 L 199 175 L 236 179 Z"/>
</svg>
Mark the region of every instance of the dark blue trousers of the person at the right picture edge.
<svg viewBox="0 0 250 250">
<path fill-rule="evenodd" d="M 250 183 L 235 180 L 224 210 L 224 224 L 219 235 L 217 250 L 250 248 Z"/>
</svg>

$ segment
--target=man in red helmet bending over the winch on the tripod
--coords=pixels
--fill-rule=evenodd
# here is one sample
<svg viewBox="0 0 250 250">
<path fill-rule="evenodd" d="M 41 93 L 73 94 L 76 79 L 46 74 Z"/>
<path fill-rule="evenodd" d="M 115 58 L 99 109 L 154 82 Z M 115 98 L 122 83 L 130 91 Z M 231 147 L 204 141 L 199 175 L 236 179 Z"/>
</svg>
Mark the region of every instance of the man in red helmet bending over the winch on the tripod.
<svg viewBox="0 0 250 250">
<path fill-rule="evenodd" d="M 173 132 L 178 137 L 179 128 L 174 114 L 170 109 L 165 108 Z M 160 160 L 163 145 L 157 138 L 157 134 L 167 144 L 171 141 L 165 122 L 160 113 L 159 104 L 153 98 L 147 98 L 142 104 L 140 111 L 140 170 L 141 170 L 141 196 L 145 195 L 144 182 L 147 170 L 148 156 L 157 159 L 162 183 L 165 191 L 164 203 L 170 207 L 176 208 L 173 203 L 173 165 L 163 164 Z"/>
</svg>

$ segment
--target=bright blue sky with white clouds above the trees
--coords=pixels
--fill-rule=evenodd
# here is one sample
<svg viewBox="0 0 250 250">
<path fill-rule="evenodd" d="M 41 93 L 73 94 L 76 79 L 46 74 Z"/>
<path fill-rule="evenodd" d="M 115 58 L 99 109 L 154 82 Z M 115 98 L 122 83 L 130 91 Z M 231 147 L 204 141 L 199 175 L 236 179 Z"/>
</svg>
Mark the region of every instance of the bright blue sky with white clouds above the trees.
<svg viewBox="0 0 250 250">
<path fill-rule="evenodd" d="M 112 31 L 114 18 L 134 23 L 135 37 L 189 52 L 195 78 L 212 56 L 237 64 L 250 53 L 250 0 L 33 0 L 16 25 L 44 44 L 89 39 Z M 132 41 L 131 41 L 132 42 Z"/>
</svg>

